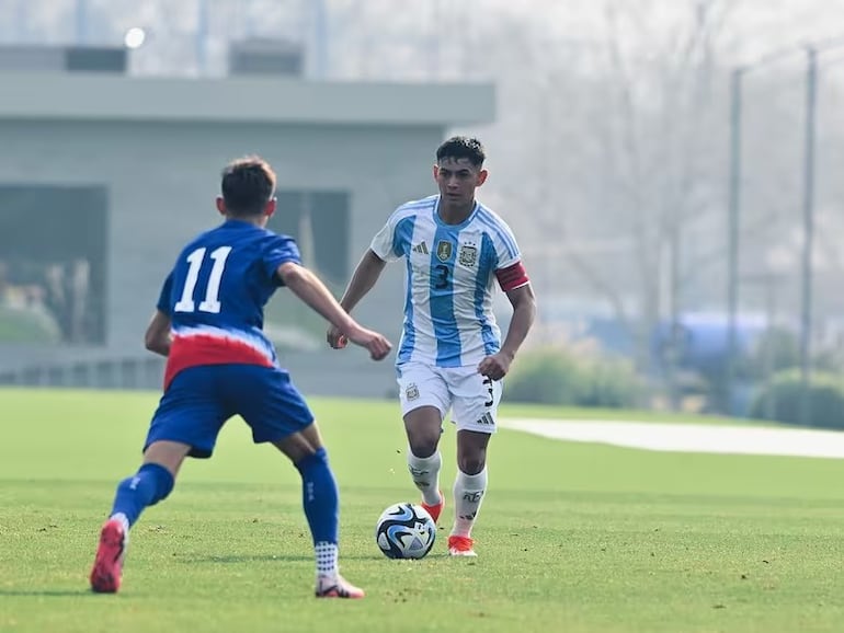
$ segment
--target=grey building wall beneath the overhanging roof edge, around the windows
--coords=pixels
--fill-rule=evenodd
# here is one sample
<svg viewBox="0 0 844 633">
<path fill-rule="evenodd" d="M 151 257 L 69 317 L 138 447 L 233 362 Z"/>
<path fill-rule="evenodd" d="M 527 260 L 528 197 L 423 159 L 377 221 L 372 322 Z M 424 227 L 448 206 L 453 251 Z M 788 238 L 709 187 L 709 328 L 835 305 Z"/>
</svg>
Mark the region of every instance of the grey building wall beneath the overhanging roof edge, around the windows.
<svg viewBox="0 0 844 633">
<path fill-rule="evenodd" d="M 352 269 L 397 205 L 435 191 L 430 168 L 443 134 L 434 126 L 327 130 L 242 124 L 0 122 L 4 148 L 0 184 L 105 184 L 110 198 L 107 345 L 91 349 L 18 346 L 14 354 L 0 354 L 0 367 L 146 354 L 141 336 L 161 280 L 184 242 L 219 221 L 214 197 L 220 168 L 243 153 L 258 152 L 271 161 L 278 188 L 351 194 Z M 400 265 L 389 266 L 355 312 L 362 322 L 396 341 L 402 271 Z M 365 364 L 361 350 L 342 354 Z M 306 358 L 288 362 L 310 366 Z M 380 371 L 391 376 L 388 368 Z M 384 388 L 375 391 L 383 393 Z"/>
</svg>

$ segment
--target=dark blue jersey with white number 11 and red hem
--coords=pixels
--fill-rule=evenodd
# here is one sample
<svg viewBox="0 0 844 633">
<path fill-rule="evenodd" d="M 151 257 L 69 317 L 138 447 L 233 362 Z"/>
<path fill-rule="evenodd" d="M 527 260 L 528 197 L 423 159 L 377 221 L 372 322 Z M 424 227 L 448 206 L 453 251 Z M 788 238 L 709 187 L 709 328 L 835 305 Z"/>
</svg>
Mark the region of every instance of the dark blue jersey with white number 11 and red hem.
<svg viewBox="0 0 844 633">
<path fill-rule="evenodd" d="M 264 306 L 283 285 L 278 266 L 300 261 L 293 238 L 239 220 L 227 220 L 190 242 L 158 301 L 172 321 L 164 387 L 189 367 L 277 367 L 273 344 L 263 333 Z"/>
</svg>

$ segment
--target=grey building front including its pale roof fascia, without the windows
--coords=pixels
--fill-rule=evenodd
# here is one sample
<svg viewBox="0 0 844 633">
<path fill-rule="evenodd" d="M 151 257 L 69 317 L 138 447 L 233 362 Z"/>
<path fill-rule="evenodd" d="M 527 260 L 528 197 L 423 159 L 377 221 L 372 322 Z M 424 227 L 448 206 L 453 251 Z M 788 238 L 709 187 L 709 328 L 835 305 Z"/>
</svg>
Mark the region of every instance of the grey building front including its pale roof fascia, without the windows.
<svg viewBox="0 0 844 633">
<path fill-rule="evenodd" d="M 347 192 L 351 272 L 398 205 L 435 192 L 433 154 L 448 127 L 488 122 L 494 112 L 491 85 L 0 72 L 0 184 L 104 185 L 110 199 L 106 344 L 0 344 L 0 377 L 34 367 L 35 382 L 101 380 L 121 359 L 148 358 L 141 339 L 160 284 L 184 242 L 219 222 L 214 198 L 232 158 L 262 154 L 280 189 Z M 355 310 L 396 343 L 402 272 L 389 266 Z M 79 362 L 89 367 L 45 370 Z M 309 392 L 394 389 L 391 362 L 374 364 L 361 349 L 283 362 Z M 148 382 L 155 371 L 146 367 L 115 371 Z"/>
</svg>

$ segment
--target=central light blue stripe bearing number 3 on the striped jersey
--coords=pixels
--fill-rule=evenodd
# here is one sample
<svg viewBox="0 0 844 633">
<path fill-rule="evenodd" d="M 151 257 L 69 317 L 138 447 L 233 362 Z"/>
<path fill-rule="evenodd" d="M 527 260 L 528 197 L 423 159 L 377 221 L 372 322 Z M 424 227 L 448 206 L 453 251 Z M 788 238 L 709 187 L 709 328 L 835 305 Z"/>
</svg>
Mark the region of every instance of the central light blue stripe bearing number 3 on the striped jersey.
<svg viewBox="0 0 844 633">
<path fill-rule="evenodd" d="M 431 248 L 431 321 L 436 336 L 437 367 L 460 366 L 460 330 L 454 315 L 454 263 L 457 257 L 457 233 L 443 225 L 436 227 Z M 440 244 L 450 244 L 448 257 L 437 254 Z"/>
</svg>

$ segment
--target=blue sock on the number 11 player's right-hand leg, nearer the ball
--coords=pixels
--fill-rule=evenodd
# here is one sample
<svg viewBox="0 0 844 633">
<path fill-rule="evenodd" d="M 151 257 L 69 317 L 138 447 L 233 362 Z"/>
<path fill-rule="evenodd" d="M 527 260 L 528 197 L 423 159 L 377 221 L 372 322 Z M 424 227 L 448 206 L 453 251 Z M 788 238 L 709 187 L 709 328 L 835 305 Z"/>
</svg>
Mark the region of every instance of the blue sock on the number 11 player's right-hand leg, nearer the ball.
<svg viewBox="0 0 844 633">
<path fill-rule="evenodd" d="M 340 500 L 328 453 L 320 448 L 296 463 L 301 473 L 303 505 L 313 544 L 338 542 Z"/>
</svg>

